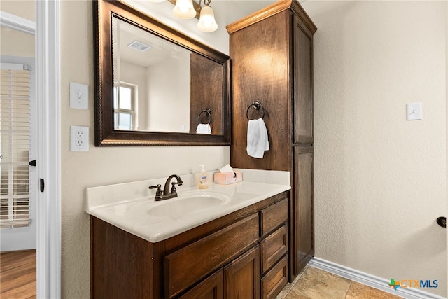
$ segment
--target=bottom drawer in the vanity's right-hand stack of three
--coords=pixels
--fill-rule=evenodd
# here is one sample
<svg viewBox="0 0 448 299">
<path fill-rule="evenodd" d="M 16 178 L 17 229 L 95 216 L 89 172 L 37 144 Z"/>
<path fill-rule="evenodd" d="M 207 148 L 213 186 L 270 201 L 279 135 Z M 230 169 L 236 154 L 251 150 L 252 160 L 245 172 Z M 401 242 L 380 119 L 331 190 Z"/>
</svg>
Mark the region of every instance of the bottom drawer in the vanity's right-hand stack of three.
<svg viewBox="0 0 448 299">
<path fill-rule="evenodd" d="M 275 298 L 288 282 L 288 256 L 284 256 L 261 279 L 261 298 Z"/>
</svg>

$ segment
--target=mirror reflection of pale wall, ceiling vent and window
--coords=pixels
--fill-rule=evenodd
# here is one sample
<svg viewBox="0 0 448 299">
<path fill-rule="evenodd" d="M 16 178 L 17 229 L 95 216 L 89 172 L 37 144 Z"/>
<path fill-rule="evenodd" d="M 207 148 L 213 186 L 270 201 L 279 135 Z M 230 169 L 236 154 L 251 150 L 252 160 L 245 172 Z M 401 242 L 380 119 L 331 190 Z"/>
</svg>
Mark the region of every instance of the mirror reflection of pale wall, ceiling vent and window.
<svg viewBox="0 0 448 299">
<path fill-rule="evenodd" d="M 112 22 L 115 129 L 190 132 L 191 51 Z"/>
</svg>

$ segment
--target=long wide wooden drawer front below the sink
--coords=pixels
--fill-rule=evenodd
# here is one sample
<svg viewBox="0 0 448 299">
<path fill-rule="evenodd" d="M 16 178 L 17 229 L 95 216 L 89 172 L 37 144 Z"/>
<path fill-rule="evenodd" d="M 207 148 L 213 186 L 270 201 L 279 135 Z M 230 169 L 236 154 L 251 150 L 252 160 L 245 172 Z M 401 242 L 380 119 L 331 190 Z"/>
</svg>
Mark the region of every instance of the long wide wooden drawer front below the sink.
<svg viewBox="0 0 448 299">
<path fill-rule="evenodd" d="M 258 214 L 165 256 L 165 297 L 172 298 L 258 242 Z"/>
</svg>

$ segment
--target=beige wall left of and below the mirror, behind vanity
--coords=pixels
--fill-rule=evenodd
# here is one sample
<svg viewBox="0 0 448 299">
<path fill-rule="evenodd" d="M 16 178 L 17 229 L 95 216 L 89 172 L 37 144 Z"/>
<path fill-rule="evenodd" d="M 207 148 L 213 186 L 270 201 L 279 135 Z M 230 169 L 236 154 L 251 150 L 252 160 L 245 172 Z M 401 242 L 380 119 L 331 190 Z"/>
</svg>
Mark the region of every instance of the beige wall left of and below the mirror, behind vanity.
<svg viewBox="0 0 448 299">
<path fill-rule="evenodd" d="M 61 1 L 62 298 L 90 296 L 90 223 L 85 188 L 218 169 L 228 146 L 94 147 L 92 3 Z M 69 107 L 69 83 L 89 85 L 89 110 Z M 90 127 L 90 151 L 70 152 L 70 125 Z M 163 183 L 163 182 L 161 182 Z"/>
</svg>

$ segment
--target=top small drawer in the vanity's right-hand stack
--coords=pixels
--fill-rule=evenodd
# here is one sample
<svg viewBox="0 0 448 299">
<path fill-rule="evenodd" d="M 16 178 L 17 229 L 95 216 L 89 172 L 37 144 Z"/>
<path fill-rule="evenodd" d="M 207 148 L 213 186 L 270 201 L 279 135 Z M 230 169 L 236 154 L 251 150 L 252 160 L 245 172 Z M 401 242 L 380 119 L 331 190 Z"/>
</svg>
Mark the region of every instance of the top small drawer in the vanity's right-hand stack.
<svg viewBox="0 0 448 299">
<path fill-rule="evenodd" d="M 278 228 L 281 223 L 288 220 L 288 200 L 282 200 L 260 211 L 260 235 Z"/>
</svg>

